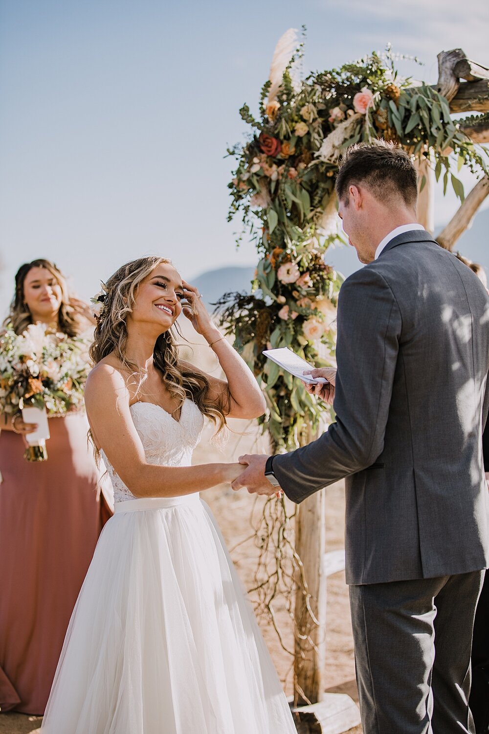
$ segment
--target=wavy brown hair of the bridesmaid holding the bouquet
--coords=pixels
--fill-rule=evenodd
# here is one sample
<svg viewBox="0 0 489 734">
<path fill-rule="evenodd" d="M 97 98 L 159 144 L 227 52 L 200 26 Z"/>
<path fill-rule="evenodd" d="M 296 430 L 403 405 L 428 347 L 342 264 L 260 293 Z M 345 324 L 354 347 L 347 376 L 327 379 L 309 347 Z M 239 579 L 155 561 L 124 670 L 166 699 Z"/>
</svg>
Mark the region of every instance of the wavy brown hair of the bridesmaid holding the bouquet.
<svg viewBox="0 0 489 734">
<path fill-rule="evenodd" d="M 29 324 L 32 324 L 32 314 L 24 300 L 24 283 L 32 268 L 44 268 L 51 273 L 61 287 L 61 305 L 58 311 L 59 330 L 67 336 L 75 337 L 87 329 L 92 319 L 89 316 L 88 305 L 70 294 L 65 276 L 61 270 L 45 258 L 37 258 L 30 263 L 24 263 L 15 274 L 15 295 L 10 304 L 10 311 L 4 326 L 11 323 L 16 334 L 21 334 Z"/>
</svg>

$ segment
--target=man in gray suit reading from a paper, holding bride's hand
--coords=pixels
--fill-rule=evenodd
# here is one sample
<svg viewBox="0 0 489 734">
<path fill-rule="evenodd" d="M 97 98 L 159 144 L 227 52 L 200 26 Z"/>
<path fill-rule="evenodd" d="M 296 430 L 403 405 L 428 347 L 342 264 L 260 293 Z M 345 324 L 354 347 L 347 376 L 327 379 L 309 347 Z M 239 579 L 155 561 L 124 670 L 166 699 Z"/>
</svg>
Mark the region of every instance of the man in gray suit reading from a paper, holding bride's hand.
<svg viewBox="0 0 489 734">
<path fill-rule="evenodd" d="M 336 423 L 290 454 L 241 457 L 233 488 L 299 503 L 346 477 L 364 733 L 473 732 L 471 637 L 489 564 L 488 295 L 416 224 L 404 151 L 354 146 L 337 195 L 367 266 L 339 295 L 336 387 L 317 388 L 336 392 Z"/>
</svg>

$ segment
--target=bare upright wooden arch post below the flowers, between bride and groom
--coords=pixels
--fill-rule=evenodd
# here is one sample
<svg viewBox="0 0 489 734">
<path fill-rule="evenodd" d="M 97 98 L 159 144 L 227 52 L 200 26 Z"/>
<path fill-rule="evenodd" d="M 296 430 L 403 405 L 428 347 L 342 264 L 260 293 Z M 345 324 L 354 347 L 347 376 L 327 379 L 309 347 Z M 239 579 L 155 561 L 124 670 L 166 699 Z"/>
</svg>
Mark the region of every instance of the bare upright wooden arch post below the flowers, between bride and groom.
<svg viewBox="0 0 489 734">
<path fill-rule="evenodd" d="M 298 579 L 295 595 L 294 673 L 296 685 L 304 694 L 298 694 L 299 705 L 317 703 L 323 697 L 326 657 L 325 506 L 325 490 L 315 492 L 301 503 L 295 520 L 295 548 L 302 562 L 303 574 L 302 583 Z M 307 594 L 302 592 L 304 579 Z"/>
</svg>

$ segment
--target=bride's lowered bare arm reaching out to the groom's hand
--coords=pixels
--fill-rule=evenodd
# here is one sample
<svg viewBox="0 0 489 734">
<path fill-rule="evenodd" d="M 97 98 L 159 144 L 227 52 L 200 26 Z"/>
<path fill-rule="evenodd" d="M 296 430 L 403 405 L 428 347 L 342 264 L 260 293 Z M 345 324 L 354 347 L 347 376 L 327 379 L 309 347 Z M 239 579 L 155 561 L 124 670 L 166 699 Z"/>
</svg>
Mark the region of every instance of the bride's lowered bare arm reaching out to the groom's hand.
<svg viewBox="0 0 489 734">
<path fill-rule="evenodd" d="M 130 415 L 130 393 L 116 368 L 100 363 L 85 388 L 87 417 L 93 440 L 135 497 L 179 497 L 221 482 L 232 482 L 240 464 L 201 464 L 170 467 L 148 464 Z"/>
</svg>

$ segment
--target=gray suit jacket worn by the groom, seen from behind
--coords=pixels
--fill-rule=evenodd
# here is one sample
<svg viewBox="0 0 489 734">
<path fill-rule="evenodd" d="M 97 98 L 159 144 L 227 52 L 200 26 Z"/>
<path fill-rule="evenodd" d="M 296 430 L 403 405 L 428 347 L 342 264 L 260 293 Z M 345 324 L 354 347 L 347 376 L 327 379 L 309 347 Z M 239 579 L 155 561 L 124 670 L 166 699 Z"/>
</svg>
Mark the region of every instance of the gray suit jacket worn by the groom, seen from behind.
<svg viewBox="0 0 489 734">
<path fill-rule="evenodd" d="M 422 230 L 351 275 L 338 304 L 336 423 L 273 459 L 301 502 L 346 477 L 348 584 L 489 565 L 482 464 L 489 298 Z"/>
</svg>

